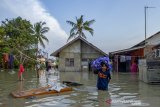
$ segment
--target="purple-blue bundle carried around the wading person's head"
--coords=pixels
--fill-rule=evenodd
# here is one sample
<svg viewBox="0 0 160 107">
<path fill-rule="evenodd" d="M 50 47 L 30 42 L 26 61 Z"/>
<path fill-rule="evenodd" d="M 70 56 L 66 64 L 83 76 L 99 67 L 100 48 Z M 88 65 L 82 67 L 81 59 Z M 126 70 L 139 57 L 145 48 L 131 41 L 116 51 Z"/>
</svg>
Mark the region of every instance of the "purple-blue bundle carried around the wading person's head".
<svg viewBox="0 0 160 107">
<path fill-rule="evenodd" d="M 111 69 L 110 60 L 109 60 L 108 56 L 99 57 L 99 58 L 95 59 L 94 61 L 92 61 L 91 67 L 96 70 L 101 69 L 102 68 L 101 62 L 104 62 L 109 67 L 109 69 Z"/>
</svg>

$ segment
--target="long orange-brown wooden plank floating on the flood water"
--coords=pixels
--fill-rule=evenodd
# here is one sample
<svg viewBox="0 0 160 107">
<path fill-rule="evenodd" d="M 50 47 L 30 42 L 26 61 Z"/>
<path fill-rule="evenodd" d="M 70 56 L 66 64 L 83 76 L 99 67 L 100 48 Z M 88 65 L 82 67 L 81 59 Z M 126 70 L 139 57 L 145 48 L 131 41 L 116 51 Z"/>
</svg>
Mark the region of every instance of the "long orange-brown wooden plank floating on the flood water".
<svg viewBox="0 0 160 107">
<path fill-rule="evenodd" d="M 28 98 L 32 96 L 38 96 L 38 95 L 46 95 L 46 94 L 58 94 L 63 92 L 72 91 L 71 87 L 64 87 L 60 91 L 56 90 L 49 90 L 50 87 L 41 87 L 36 89 L 30 89 L 26 91 L 15 91 L 11 92 L 11 95 L 15 98 Z"/>
</svg>

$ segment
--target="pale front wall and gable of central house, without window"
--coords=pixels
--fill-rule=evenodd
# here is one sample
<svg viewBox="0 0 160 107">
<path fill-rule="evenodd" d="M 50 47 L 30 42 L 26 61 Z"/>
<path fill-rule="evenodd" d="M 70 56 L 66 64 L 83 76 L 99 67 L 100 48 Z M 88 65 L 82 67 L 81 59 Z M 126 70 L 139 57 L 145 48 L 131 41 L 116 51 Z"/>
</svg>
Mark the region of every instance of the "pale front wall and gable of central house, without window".
<svg viewBox="0 0 160 107">
<path fill-rule="evenodd" d="M 60 52 L 59 71 L 88 71 L 89 62 L 100 56 L 103 54 L 82 40 L 77 40 Z M 74 58 L 74 66 L 66 67 L 65 58 Z M 82 61 L 82 59 L 87 59 L 87 61 Z"/>
</svg>

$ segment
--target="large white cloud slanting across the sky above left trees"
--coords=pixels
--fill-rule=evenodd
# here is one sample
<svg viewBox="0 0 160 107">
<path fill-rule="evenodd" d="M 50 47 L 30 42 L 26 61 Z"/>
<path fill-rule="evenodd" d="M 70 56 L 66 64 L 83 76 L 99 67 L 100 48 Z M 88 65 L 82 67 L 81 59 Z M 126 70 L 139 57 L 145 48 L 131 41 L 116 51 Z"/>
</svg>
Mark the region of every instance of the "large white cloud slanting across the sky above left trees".
<svg viewBox="0 0 160 107">
<path fill-rule="evenodd" d="M 49 44 L 46 45 L 46 50 L 51 54 L 59 46 L 63 45 L 67 40 L 66 32 L 60 27 L 58 21 L 43 7 L 38 0 L 3 0 L 4 10 L 9 14 L 21 16 L 30 20 L 32 23 L 45 21 L 46 26 L 50 31 L 46 34 L 49 39 Z M 2 6 L 2 5 L 1 5 Z M 1 11 L 2 12 L 2 11 Z M 8 17 L 6 16 L 6 18 Z M 13 16 L 13 18 L 15 17 Z"/>
</svg>

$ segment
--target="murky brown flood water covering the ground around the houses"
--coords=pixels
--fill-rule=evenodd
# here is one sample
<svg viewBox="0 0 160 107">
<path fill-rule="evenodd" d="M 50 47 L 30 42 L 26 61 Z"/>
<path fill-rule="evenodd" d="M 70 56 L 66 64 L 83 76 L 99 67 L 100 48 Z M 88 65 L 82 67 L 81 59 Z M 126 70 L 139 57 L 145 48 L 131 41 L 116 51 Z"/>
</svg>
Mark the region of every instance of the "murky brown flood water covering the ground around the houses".
<svg viewBox="0 0 160 107">
<path fill-rule="evenodd" d="M 17 72 L 0 72 L 0 106 L 2 107 L 160 107 L 160 85 L 138 81 L 138 74 L 113 73 L 108 91 L 96 88 L 97 75 L 89 72 L 60 72 L 62 81 L 82 83 L 73 91 L 33 98 L 13 98 L 15 90 L 45 86 L 54 74 L 36 78 L 35 71 L 24 73 L 25 80 L 17 81 Z"/>
</svg>

